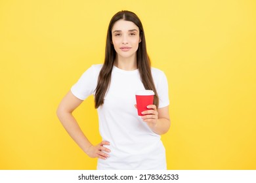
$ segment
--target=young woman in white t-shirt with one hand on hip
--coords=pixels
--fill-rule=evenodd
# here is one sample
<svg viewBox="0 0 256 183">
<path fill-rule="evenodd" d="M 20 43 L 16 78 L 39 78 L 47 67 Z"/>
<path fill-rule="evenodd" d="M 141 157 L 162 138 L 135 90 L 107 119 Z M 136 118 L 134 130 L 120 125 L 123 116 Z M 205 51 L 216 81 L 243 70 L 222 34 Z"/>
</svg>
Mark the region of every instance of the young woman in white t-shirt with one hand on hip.
<svg viewBox="0 0 256 183">
<path fill-rule="evenodd" d="M 153 90 L 154 105 L 138 116 L 135 92 Z M 102 142 L 93 145 L 72 112 L 89 95 L 95 108 Z M 104 64 L 93 65 L 62 99 L 58 118 L 97 169 L 166 169 L 160 135 L 170 126 L 167 79 L 150 67 L 142 24 L 136 14 L 117 12 L 110 20 Z"/>
</svg>

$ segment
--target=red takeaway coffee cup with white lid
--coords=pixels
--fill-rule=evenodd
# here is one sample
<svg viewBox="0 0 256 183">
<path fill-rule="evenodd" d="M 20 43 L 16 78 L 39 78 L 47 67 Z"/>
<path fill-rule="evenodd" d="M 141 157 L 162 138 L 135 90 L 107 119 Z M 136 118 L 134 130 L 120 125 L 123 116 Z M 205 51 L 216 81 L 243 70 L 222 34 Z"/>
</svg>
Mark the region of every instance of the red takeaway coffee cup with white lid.
<svg viewBox="0 0 256 183">
<path fill-rule="evenodd" d="M 141 112 L 148 110 L 147 106 L 154 102 L 155 93 L 152 90 L 140 90 L 135 93 L 138 115 L 143 116 Z"/>
</svg>

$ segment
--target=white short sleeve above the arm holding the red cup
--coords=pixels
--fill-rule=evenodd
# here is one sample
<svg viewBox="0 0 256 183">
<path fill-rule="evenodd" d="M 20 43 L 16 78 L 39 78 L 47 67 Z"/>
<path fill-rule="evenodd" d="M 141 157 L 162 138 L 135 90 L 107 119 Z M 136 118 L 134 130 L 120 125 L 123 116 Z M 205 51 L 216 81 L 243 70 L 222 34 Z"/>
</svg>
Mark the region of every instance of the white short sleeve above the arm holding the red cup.
<svg viewBox="0 0 256 183">
<path fill-rule="evenodd" d="M 168 82 L 167 77 L 163 71 L 158 70 L 155 73 L 154 82 L 156 84 L 156 90 L 158 92 L 159 97 L 159 108 L 167 107 L 169 105 L 169 90 L 168 90 Z"/>
</svg>

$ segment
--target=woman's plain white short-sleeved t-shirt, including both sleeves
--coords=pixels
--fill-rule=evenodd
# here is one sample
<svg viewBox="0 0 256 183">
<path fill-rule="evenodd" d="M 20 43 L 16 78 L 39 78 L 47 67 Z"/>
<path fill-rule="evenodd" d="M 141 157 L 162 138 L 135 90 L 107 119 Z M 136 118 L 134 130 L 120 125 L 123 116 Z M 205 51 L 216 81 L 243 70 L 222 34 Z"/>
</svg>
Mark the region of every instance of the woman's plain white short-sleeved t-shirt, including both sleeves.
<svg viewBox="0 0 256 183">
<path fill-rule="evenodd" d="M 102 64 L 93 65 L 71 88 L 78 99 L 95 95 L 98 74 Z M 159 108 L 169 105 L 165 74 L 152 68 L 152 76 L 159 95 Z M 165 148 L 161 136 L 142 121 L 135 108 L 135 92 L 144 90 L 139 70 L 112 69 L 111 84 L 98 107 L 102 140 L 110 142 L 110 158 L 98 159 L 97 169 L 166 169 Z"/>
</svg>

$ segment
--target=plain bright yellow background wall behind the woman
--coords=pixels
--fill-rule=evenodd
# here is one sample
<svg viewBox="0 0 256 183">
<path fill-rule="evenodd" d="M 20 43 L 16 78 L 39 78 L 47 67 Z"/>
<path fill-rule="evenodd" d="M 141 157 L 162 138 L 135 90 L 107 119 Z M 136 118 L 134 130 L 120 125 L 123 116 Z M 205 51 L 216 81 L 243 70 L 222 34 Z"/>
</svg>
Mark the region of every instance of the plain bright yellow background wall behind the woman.
<svg viewBox="0 0 256 183">
<path fill-rule="evenodd" d="M 95 169 L 56 108 L 102 63 L 119 10 L 142 20 L 152 65 L 169 81 L 168 169 L 256 169 L 256 3 L 251 0 L 0 1 L 0 169 Z M 94 144 L 89 97 L 74 112 Z"/>
</svg>

